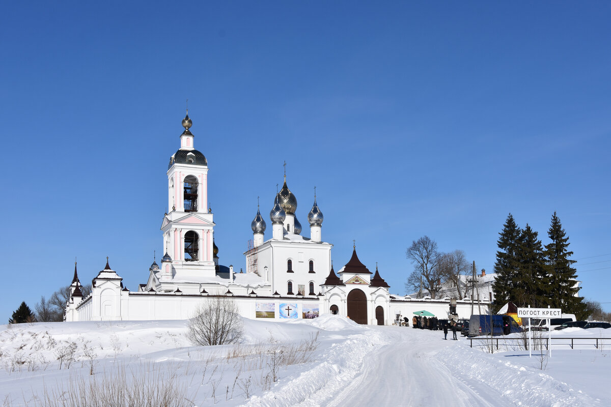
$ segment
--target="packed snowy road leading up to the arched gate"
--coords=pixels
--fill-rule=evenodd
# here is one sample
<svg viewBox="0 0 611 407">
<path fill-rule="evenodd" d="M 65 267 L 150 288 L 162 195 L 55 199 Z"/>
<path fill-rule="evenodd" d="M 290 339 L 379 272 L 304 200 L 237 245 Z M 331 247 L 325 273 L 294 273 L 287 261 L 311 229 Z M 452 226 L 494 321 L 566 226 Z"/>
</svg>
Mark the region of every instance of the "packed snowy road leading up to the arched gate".
<svg viewBox="0 0 611 407">
<path fill-rule="evenodd" d="M 328 406 L 510 406 L 485 384 L 453 376 L 435 356 L 441 334 L 400 331 L 364 359 L 362 372 Z M 448 340 L 450 346 L 455 342 Z M 384 373 L 384 372 L 389 372 Z M 477 389 L 477 390 L 475 390 Z"/>
</svg>

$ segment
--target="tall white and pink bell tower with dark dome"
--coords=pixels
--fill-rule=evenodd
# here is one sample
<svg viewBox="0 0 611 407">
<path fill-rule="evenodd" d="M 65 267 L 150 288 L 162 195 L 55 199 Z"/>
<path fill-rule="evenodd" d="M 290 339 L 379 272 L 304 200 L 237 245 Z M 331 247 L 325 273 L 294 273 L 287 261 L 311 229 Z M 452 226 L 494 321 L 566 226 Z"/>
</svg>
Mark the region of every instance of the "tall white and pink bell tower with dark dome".
<svg viewBox="0 0 611 407">
<path fill-rule="evenodd" d="M 161 231 L 163 246 L 172 259 L 170 281 L 189 276 L 214 276 L 213 214 L 207 209 L 208 162 L 194 148 L 189 110 L 182 121 L 180 148 L 167 169 L 169 213 Z"/>
</svg>

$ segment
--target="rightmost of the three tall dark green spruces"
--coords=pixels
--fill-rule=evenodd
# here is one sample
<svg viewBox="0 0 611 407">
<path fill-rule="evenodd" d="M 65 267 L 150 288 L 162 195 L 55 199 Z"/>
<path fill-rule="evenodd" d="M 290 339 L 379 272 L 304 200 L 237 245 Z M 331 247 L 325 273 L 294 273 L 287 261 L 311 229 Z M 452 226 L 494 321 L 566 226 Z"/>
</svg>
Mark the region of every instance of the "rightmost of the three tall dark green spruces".
<svg viewBox="0 0 611 407">
<path fill-rule="evenodd" d="M 549 279 L 550 305 L 562 308 L 570 314 L 583 314 L 586 311 L 584 298 L 579 297 L 577 287 L 577 270 L 571 267 L 576 261 L 569 259 L 573 251 L 568 250 L 569 237 L 556 212 L 552 215 L 552 223 L 547 231 L 551 242 L 545 245 L 546 274 Z"/>
</svg>

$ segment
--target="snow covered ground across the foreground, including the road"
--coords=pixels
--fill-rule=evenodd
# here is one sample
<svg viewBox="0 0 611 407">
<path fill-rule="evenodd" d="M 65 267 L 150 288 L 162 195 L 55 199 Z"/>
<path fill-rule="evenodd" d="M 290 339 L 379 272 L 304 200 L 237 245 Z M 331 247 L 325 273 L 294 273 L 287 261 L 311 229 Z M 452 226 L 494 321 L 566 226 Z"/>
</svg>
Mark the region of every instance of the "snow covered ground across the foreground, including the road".
<svg viewBox="0 0 611 407">
<path fill-rule="evenodd" d="M 111 397 L 134 396 L 149 397 L 151 405 L 166 398 L 167 405 L 200 407 L 611 405 L 611 340 L 593 345 L 611 330 L 554 332 L 589 344 L 558 345 L 552 358 L 540 352 L 529 358 L 517 335 L 505 345 L 501 339 L 497 351 L 496 340 L 470 348 L 466 338 L 444 340 L 441 331 L 360 326 L 335 315 L 244 320 L 243 343 L 218 347 L 193 347 L 185 327 L 185 321 L 4 326 L 0 405 L 111 406 Z"/>
</svg>

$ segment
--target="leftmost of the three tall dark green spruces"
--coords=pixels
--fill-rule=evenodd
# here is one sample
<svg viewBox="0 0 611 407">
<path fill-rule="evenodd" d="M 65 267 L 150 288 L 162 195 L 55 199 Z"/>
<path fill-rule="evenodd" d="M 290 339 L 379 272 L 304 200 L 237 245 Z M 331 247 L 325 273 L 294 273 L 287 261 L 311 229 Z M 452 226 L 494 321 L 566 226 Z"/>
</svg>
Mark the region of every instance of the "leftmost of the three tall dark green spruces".
<svg viewBox="0 0 611 407">
<path fill-rule="evenodd" d="M 516 301 L 514 293 L 516 290 L 516 278 L 518 277 L 518 247 L 519 237 L 521 235 L 520 228 L 516 225 L 513 215 L 509 214 L 503 231 L 499 233 L 497 245 L 499 251 L 496 253 L 496 263 L 494 264 L 494 272 L 496 273 L 496 281 L 492 290 L 494 291 L 494 305 L 500 308 L 508 301 Z"/>
</svg>

